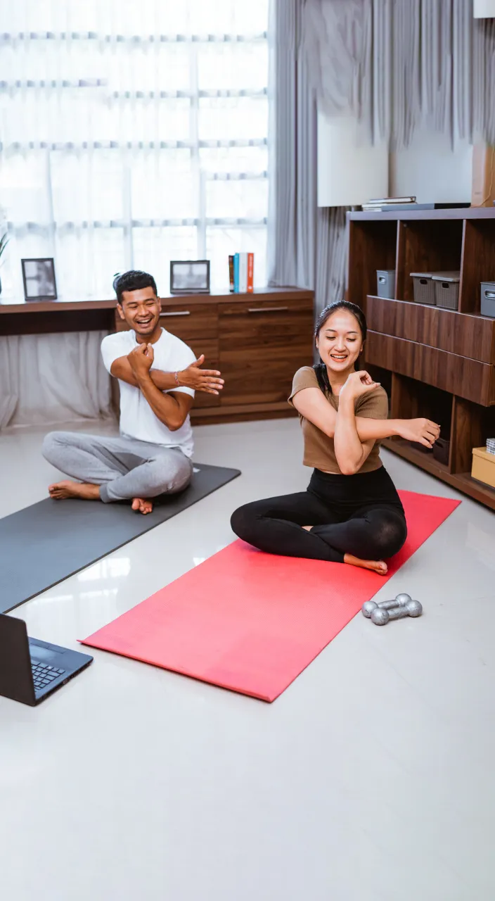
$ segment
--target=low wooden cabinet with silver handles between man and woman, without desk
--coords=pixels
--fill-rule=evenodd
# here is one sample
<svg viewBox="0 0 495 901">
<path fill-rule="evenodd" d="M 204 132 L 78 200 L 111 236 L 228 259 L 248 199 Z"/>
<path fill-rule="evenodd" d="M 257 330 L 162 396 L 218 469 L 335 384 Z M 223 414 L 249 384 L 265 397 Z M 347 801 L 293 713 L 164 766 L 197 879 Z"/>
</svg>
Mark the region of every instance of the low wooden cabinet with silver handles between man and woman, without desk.
<svg viewBox="0 0 495 901">
<path fill-rule="evenodd" d="M 294 415 L 287 403 L 294 372 L 312 363 L 311 291 L 166 297 L 161 323 L 225 379 L 219 396 L 196 393 L 194 423 Z M 115 325 L 127 328 L 118 314 Z"/>
</svg>

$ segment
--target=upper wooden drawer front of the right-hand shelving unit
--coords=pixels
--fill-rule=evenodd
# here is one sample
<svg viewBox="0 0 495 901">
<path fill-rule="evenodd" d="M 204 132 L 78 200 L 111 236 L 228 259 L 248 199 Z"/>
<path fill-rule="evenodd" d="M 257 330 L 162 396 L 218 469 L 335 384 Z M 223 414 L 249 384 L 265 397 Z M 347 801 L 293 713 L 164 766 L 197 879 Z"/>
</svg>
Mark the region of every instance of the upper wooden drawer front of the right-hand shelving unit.
<svg viewBox="0 0 495 901">
<path fill-rule="evenodd" d="M 495 363 L 495 319 L 372 296 L 366 299 L 366 317 L 373 332 Z"/>
</svg>

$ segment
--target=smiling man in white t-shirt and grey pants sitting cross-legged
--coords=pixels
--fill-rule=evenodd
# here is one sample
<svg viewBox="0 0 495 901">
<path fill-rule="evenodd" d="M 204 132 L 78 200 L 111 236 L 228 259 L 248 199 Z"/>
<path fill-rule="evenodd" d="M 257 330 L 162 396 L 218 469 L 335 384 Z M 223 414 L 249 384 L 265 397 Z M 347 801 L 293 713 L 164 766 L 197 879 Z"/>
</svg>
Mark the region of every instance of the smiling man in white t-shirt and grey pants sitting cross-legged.
<svg viewBox="0 0 495 901">
<path fill-rule="evenodd" d="M 191 348 L 160 325 L 155 279 L 146 272 L 116 278 L 117 310 L 129 332 L 103 338 L 103 363 L 121 389 L 121 435 L 106 438 L 50 432 L 43 456 L 76 478 L 49 486 L 55 499 L 131 500 L 142 514 L 150 498 L 175 494 L 193 474 L 193 430 L 189 411 L 194 391 L 218 394 L 220 372 L 200 369 Z"/>
</svg>

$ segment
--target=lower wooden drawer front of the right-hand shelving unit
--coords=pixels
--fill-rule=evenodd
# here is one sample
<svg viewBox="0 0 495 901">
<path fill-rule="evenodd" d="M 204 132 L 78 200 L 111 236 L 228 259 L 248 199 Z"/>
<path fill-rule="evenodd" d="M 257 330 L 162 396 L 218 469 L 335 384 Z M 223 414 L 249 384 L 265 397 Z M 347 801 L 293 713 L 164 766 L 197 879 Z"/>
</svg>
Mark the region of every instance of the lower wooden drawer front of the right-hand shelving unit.
<svg viewBox="0 0 495 901">
<path fill-rule="evenodd" d="M 365 358 L 375 366 L 416 378 L 475 404 L 495 404 L 495 369 L 476 359 L 373 331 L 368 332 Z"/>
</svg>

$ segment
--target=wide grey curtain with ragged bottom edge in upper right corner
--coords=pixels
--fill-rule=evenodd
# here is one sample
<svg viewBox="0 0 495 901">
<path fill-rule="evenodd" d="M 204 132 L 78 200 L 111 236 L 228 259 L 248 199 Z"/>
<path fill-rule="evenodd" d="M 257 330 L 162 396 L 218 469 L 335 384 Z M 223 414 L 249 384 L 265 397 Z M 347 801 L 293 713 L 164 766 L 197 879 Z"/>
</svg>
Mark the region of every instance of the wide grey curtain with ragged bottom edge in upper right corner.
<svg viewBox="0 0 495 901">
<path fill-rule="evenodd" d="M 473 0 L 300 0 L 311 85 L 370 141 L 407 147 L 421 126 L 495 143 L 495 19 Z"/>
</svg>

